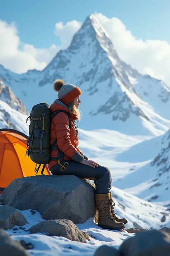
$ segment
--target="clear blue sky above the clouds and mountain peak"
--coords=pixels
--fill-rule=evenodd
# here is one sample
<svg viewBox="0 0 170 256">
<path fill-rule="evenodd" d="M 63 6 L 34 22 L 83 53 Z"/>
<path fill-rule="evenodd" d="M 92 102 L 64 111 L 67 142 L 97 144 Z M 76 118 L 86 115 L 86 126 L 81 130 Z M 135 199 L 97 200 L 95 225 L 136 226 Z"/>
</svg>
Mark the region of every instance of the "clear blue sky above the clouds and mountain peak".
<svg viewBox="0 0 170 256">
<path fill-rule="evenodd" d="M 0 19 L 15 21 L 20 40 L 36 48 L 60 45 L 55 23 L 83 22 L 91 13 L 119 18 L 138 39 L 170 43 L 170 0 L 0 0 Z"/>
</svg>

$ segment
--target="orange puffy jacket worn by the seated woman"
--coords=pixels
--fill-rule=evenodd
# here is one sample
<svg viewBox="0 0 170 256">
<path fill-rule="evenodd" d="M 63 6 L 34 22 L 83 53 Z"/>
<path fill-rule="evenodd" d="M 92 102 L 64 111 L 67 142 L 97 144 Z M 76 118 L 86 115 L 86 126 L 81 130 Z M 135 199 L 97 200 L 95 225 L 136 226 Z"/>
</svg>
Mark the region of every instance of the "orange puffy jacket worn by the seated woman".
<svg viewBox="0 0 170 256">
<path fill-rule="evenodd" d="M 79 152 L 81 155 L 83 153 L 77 147 L 79 144 L 79 137 L 75 128 L 75 120 L 77 120 L 76 114 L 72 114 L 69 109 L 63 104 L 59 99 L 56 99 L 50 106 L 51 113 L 57 110 L 63 110 L 69 113 L 71 118 L 71 129 L 69 128 L 69 118 L 68 116 L 61 112 L 56 114 L 52 118 L 51 126 L 50 126 L 50 144 L 57 139 L 57 143 L 55 145 L 60 148 L 60 150 L 64 153 L 64 160 L 71 160 L 72 156 Z M 52 150 L 50 157 L 57 157 L 58 150 Z M 49 161 L 48 168 L 51 169 L 57 161 Z"/>
</svg>

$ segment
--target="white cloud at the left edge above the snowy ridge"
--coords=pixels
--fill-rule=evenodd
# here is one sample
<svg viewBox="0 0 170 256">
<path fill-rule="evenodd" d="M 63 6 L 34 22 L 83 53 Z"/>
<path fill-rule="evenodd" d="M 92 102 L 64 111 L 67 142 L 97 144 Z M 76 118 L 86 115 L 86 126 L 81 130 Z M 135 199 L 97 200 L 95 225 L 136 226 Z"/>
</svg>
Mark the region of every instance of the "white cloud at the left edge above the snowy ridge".
<svg viewBox="0 0 170 256">
<path fill-rule="evenodd" d="M 36 49 L 20 42 L 15 23 L 0 20 L 0 64 L 16 73 L 28 69 L 42 70 L 60 49 L 51 45 L 47 49 Z"/>
</svg>

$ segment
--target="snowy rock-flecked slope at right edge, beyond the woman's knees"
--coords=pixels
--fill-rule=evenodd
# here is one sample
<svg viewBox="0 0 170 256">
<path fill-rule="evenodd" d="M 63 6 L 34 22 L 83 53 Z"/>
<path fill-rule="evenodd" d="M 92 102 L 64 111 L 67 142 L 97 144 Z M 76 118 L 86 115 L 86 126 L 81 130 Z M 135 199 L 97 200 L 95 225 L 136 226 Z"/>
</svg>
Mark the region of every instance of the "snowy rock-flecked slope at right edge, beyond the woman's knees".
<svg viewBox="0 0 170 256">
<path fill-rule="evenodd" d="M 115 181 L 113 184 L 147 201 L 170 206 L 170 130 L 166 134 L 154 140 L 152 139 L 147 143 L 147 150 L 153 151 L 150 152 L 150 156 L 148 156 L 147 151 L 145 152 L 145 142 L 142 143 L 143 145 L 135 145 L 134 150 L 132 147 L 128 154 L 124 152 L 124 156 L 128 157 L 134 151 L 136 151 L 136 154 L 139 153 L 137 147 L 138 149 L 143 148 L 143 155 L 145 156 L 145 161 L 147 161 L 143 162 L 141 168 L 127 172 L 124 177 L 122 176 L 121 179 Z M 123 159 L 124 156 L 120 156 L 119 160 Z M 128 158 L 129 162 L 133 161 L 132 158 L 134 159 L 135 155 Z M 140 158 L 138 157 L 138 161 Z"/>
</svg>

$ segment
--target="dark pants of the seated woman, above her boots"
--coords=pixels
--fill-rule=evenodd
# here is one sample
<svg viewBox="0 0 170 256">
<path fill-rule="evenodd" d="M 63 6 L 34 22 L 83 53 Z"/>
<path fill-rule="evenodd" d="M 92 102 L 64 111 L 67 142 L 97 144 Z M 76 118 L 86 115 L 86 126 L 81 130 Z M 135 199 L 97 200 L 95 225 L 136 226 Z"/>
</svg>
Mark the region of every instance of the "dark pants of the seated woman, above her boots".
<svg viewBox="0 0 170 256">
<path fill-rule="evenodd" d="M 75 175 L 79 178 L 94 180 L 96 185 L 96 194 L 108 194 L 111 189 L 111 174 L 107 167 L 99 165 L 99 167 L 90 167 L 82 163 L 78 163 L 74 160 L 61 161 L 64 165 L 65 162 L 69 163 L 69 166 L 65 171 L 61 171 L 61 166 L 56 163 L 51 167 L 50 171 L 53 175 Z"/>
</svg>

